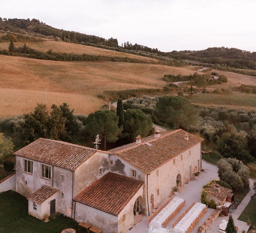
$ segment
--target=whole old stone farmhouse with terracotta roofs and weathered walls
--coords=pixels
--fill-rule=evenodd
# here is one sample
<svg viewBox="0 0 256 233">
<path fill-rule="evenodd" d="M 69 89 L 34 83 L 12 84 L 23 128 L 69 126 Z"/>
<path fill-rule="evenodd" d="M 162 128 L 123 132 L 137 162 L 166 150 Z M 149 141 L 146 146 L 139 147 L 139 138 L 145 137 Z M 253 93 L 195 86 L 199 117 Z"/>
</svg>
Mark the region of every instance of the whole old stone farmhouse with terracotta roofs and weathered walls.
<svg viewBox="0 0 256 233">
<path fill-rule="evenodd" d="M 126 232 L 201 169 L 203 139 L 182 129 L 102 151 L 39 138 L 16 151 L 16 191 L 29 214 L 60 212 L 104 232 Z"/>
</svg>

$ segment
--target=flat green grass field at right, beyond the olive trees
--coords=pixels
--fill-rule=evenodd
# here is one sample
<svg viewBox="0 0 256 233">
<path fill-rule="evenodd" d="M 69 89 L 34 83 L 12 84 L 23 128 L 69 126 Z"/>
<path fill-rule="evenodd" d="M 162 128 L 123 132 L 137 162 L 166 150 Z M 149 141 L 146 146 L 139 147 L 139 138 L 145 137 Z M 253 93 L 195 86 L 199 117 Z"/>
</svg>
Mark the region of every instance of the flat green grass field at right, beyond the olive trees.
<svg viewBox="0 0 256 233">
<path fill-rule="evenodd" d="M 190 101 L 193 104 L 256 107 L 256 95 L 246 93 L 194 95 Z"/>
</svg>

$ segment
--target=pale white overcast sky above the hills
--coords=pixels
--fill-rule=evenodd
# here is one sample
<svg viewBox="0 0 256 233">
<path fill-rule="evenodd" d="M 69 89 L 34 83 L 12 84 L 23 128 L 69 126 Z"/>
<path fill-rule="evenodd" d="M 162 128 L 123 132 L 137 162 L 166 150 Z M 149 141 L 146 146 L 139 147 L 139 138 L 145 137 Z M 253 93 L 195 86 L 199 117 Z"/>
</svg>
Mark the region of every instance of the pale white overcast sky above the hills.
<svg viewBox="0 0 256 233">
<path fill-rule="evenodd" d="M 0 0 L 2 18 L 113 37 L 161 51 L 256 51 L 256 0 Z"/>
</svg>

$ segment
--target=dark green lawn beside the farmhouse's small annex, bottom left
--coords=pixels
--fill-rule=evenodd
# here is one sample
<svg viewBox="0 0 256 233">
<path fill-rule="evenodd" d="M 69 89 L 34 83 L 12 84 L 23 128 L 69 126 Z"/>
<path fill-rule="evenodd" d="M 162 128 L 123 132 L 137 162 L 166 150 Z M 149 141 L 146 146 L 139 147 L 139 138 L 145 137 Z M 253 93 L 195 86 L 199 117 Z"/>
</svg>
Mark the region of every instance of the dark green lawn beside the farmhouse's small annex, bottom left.
<svg viewBox="0 0 256 233">
<path fill-rule="evenodd" d="M 60 233 L 63 229 L 78 231 L 78 224 L 63 215 L 45 223 L 28 215 L 28 200 L 22 195 L 7 191 L 0 193 L 0 232 L 10 233 Z M 83 232 L 83 231 L 81 231 Z"/>
</svg>

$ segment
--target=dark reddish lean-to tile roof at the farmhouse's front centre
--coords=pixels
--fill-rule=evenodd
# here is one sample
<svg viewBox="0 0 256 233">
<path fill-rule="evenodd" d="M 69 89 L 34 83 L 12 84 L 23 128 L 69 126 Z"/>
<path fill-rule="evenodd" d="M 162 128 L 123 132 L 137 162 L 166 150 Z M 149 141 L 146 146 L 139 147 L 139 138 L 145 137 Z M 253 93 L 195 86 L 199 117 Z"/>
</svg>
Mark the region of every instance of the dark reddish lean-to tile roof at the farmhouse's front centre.
<svg viewBox="0 0 256 233">
<path fill-rule="evenodd" d="M 108 172 L 77 194 L 74 200 L 118 216 L 143 184 L 143 181 Z"/>
</svg>

